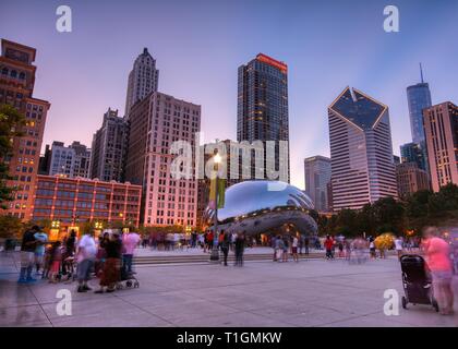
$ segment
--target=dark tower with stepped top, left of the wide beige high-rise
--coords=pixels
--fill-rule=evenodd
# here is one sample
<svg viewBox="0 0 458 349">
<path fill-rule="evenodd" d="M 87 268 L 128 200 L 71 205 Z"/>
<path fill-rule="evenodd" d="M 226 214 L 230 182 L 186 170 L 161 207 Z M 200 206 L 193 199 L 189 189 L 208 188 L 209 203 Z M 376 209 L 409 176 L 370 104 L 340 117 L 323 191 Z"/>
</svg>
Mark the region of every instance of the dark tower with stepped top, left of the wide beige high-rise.
<svg viewBox="0 0 458 349">
<path fill-rule="evenodd" d="M 128 142 L 128 124 L 118 110 L 108 108 L 101 128 L 94 134 L 91 155 L 91 178 L 123 181 Z"/>
</svg>

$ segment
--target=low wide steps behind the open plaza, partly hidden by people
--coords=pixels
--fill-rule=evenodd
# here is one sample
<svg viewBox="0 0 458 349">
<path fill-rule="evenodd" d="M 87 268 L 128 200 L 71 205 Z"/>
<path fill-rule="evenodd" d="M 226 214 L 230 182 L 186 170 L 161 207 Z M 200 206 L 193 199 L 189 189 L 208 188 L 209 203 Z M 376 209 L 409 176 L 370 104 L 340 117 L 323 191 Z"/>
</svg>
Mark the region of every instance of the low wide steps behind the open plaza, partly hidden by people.
<svg viewBox="0 0 458 349">
<path fill-rule="evenodd" d="M 209 253 L 189 254 L 189 255 L 164 255 L 164 256 L 136 256 L 134 264 L 136 265 L 154 265 L 154 264 L 182 264 L 182 263 L 207 263 L 209 262 Z M 220 257 L 222 255 L 220 254 Z M 311 253 L 309 255 L 299 255 L 299 258 L 323 258 L 323 253 Z M 272 261 L 273 253 L 246 253 L 243 256 L 244 261 Z M 234 255 L 229 254 L 228 262 L 234 262 Z M 292 257 L 290 257 L 292 260 Z"/>
</svg>

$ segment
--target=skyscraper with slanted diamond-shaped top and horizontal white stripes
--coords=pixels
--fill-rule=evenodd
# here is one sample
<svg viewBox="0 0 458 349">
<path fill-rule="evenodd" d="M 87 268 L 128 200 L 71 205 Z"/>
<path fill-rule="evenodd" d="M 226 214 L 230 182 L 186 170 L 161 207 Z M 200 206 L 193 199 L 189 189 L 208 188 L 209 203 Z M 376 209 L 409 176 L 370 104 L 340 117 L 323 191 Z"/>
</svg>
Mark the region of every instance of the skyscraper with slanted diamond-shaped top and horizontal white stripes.
<svg viewBox="0 0 458 349">
<path fill-rule="evenodd" d="M 347 87 L 328 117 L 334 210 L 397 197 L 388 107 Z"/>
</svg>

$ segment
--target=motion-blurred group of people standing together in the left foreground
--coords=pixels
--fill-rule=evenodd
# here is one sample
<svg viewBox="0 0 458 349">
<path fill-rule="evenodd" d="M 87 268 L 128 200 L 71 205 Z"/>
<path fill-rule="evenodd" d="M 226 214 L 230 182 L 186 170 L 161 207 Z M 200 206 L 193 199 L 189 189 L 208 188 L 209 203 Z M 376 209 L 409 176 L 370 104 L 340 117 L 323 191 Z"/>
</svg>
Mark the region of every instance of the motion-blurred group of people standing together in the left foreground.
<svg viewBox="0 0 458 349">
<path fill-rule="evenodd" d="M 87 231 L 77 239 L 72 230 L 62 240 L 48 241 L 48 234 L 34 226 L 22 239 L 17 282 L 35 282 L 37 276 L 53 284 L 76 280 L 77 292 L 87 292 L 88 280 L 97 277 L 100 286 L 97 293 L 113 292 L 122 273 L 134 273 L 132 260 L 140 239 L 135 232 L 116 230 L 98 237 Z"/>
</svg>

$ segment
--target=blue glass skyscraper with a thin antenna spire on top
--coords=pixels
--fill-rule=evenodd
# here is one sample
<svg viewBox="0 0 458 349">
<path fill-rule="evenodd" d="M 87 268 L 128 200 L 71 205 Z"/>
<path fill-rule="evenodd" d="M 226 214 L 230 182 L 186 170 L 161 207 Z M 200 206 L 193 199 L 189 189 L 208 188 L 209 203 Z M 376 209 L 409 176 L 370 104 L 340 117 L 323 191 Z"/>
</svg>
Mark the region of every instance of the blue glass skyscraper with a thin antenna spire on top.
<svg viewBox="0 0 458 349">
<path fill-rule="evenodd" d="M 413 143 L 421 149 L 419 167 L 427 171 L 426 144 L 424 140 L 423 109 L 432 106 L 430 85 L 423 81 L 423 70 L 420 64 L 421 83 L 407 87 L 407 101 L 409 105 L 410 129 Z"/>
</svg>

